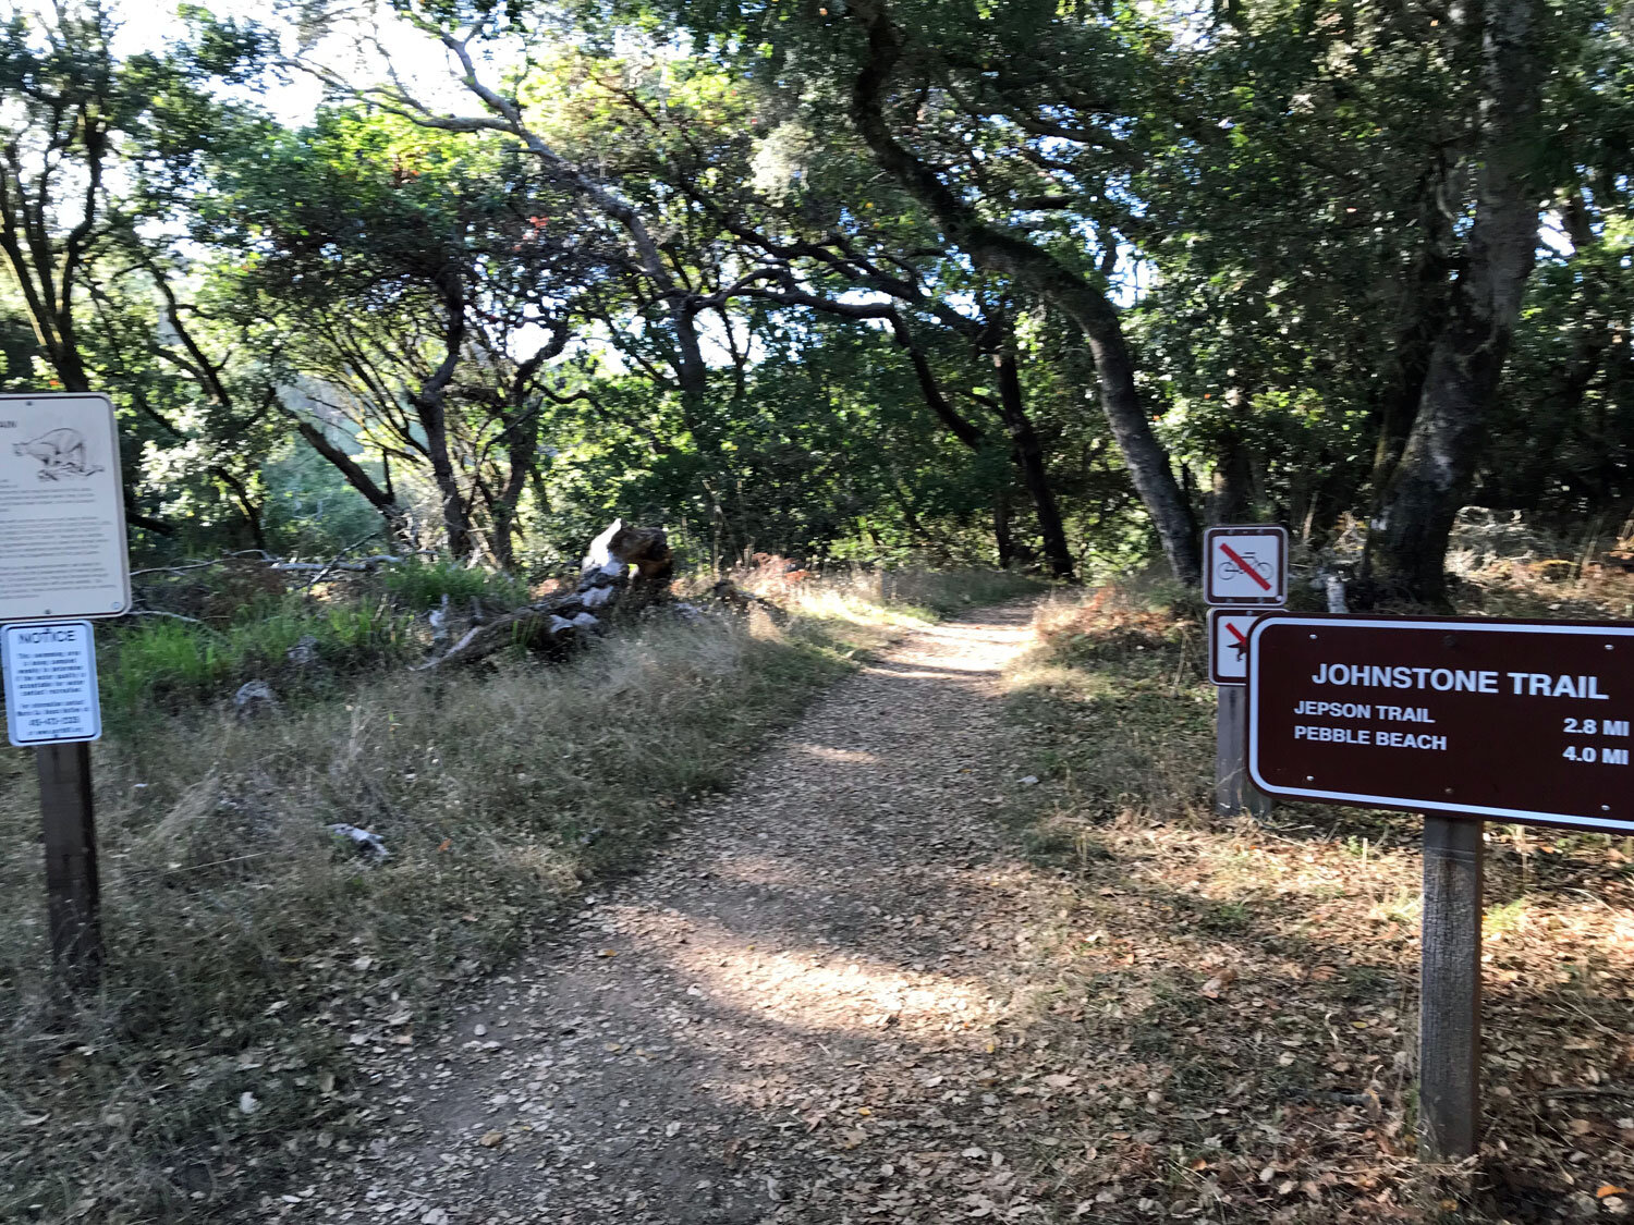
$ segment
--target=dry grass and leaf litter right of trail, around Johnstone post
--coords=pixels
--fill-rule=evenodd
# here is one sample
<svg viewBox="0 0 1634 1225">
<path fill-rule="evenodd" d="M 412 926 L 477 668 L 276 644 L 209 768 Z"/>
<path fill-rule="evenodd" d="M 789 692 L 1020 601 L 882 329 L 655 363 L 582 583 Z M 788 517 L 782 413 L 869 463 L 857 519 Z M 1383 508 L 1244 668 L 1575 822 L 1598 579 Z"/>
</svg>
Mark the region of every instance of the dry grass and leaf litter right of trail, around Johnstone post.
<svg viewBox="0 0 1634 1225">
<path fill-rule="evenodd" d="M 1629 1215 L 1634 848 L 1489 826 L 1485 1143 L 1471 1171 L 1428 1168 L 1418 820 L 1216 818 L 1193 609 L 1108 595 L 1042 609 L 1039 634 L 1011 678 L 1042 776 L 1018 823 L 1062 875 L 1036 1009 L 1101 1102 L 1083 1143 L 1039 1148 L 1067 1199 L 1108 1220 Z"/>
</svg>

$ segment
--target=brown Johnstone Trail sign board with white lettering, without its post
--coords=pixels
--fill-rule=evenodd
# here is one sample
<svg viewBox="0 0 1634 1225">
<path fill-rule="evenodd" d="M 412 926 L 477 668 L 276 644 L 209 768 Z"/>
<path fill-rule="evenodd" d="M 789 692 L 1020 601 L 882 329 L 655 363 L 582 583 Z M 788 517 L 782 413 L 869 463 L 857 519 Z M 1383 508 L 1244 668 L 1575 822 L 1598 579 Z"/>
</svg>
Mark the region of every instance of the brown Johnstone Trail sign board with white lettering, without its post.
<svg viewBox="0 0 1634 1225">
<path fill-rule="evenodd" d="M 1273 795 L 1634 833 L 1634 626 L 1273 612 L 1248 776 Z"/>
</svg>

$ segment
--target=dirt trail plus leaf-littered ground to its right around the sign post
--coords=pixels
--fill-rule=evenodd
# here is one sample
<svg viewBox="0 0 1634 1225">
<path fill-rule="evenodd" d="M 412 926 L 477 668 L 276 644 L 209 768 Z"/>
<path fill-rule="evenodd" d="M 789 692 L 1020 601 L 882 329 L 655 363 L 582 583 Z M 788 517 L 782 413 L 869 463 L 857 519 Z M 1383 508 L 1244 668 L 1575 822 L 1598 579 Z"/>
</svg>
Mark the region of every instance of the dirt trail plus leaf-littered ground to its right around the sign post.
<svg viewBox="0 0 1634 1225">
<path fill-rule="evenodd" d="M 361 1022 L 368 1083 L 335 1088 L 361 1129 L 292 1147 L 245 1218 L 1629 1215 L 1621 875 L 1493 843 L 1489 1138 L 1479 1169 L 1423 1166 L 1412 830 L 1217 823 L 1180 792 L 1119 817 L 1204 786 L 1208 694 L 1137 642 L 1123 688 L 1018 712 L 1029 619 L 904 639 L 453 1021 Z"/>
</svg>

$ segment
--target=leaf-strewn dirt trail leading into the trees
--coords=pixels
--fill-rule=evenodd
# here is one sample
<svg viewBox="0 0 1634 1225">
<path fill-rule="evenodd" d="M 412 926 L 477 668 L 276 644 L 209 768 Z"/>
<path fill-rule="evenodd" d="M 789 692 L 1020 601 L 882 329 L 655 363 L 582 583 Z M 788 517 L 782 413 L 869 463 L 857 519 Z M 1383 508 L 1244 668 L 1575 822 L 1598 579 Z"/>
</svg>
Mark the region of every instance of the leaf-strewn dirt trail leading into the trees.
<svg viewBox="0 0 1634 1225">
<path fill-rule="evenodd" d="M 382 1062 L 379 1138 L 260 1218 L 1047 1220 L 1015 1173 L 1028 1116 L 987 1067 L 1047 905 L 993 820 L 1023 773 L 995 679 L 1028 619 L 920 630 L 837 686 L 647 869 Z"/>
</svg>

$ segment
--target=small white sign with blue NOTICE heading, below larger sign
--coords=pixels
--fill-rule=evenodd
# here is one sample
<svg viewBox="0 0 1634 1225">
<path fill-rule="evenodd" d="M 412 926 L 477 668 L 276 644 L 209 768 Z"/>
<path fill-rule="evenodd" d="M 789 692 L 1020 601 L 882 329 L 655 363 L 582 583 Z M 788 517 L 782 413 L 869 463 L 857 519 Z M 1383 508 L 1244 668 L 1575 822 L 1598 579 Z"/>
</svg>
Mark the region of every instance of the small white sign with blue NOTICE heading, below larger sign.
<svg viewBox="0 0 1634 1225">
<path fill-rule="evenodd" d="M 88 621 L 0 626 L 5 730 L 13 745 L 101 737 L 96 642 Z"/>
</svg>

